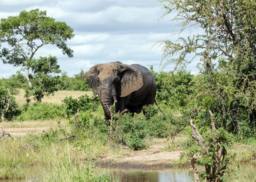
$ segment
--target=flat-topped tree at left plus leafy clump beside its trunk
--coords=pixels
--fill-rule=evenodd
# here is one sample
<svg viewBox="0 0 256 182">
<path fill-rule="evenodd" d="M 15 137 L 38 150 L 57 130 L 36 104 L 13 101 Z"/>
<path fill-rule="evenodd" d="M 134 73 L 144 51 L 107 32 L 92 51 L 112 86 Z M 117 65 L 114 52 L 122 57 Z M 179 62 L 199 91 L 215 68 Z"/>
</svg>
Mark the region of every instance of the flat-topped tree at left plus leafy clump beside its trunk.
<svg viewBox="0 0 256 182">
<path fill-rule="evenodd" d="M 44 95 L 58 90 L 61 80 L 56 74 L 61 71 L 56 57 L 34 59 L 34 55 L 42 46 L 52 44 L 59 47 L 64 55 L 72 57 L 73 51 L 66 41 L 73 36 L 73 30 L 67 23 L 58 22 L 53 17 L 48 17 L 46 11 L 39 9 L 22 11 L 18 16 L 1 19 L 0 58 L 3 63 L 26 68 L 29 84 L 26 89 L 27 97 L 34 95 L 41 101 Z M 29 75 L 30 68 L 33 75 Z"/>
</svg>

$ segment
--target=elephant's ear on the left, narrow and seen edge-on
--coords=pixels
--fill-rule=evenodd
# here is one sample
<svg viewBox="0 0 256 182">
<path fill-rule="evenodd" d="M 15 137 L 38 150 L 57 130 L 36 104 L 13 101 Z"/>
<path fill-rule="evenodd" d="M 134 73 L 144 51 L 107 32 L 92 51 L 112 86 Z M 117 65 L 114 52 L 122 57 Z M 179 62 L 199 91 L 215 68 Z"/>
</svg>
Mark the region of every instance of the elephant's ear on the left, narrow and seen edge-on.
<svg viewBox="0 0 256 182">
<path fill-rule="evenodd" d="M 86 74 L 86 80 L 94 93 L 96 93 L 96 88 L 99 85 L 99 71 L 97 71 L 99 65 L 92 66 Z"/>
</svg>

